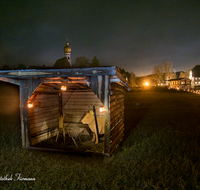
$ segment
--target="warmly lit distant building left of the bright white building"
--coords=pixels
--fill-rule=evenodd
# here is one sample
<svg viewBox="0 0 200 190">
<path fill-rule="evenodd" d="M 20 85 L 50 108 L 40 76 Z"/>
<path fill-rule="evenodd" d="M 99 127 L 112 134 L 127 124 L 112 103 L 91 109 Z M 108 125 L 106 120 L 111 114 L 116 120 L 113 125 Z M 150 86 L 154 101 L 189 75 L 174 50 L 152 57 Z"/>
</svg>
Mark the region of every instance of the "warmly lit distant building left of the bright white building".
<svg viewBox="0 0 200 190">
<path fill-rule="evenodd" d="M 170 79 L 168 85 L 169 89 L 190 90 L 191 80 L 188 78 Z"/>
</svg>

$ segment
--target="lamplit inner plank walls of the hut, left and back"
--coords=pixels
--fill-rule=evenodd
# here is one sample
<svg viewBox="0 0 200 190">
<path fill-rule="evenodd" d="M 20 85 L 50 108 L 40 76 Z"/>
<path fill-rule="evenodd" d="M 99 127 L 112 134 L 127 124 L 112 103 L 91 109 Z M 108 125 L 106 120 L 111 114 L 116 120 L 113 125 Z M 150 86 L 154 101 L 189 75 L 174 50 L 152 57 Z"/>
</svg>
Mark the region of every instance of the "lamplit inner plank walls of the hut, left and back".
<svg viewBox="0 0 200 190">
<path fill-rule="evenodd" d="M 28 110 L 32 145 L 57 134 L 59 88 L 55 84 L 43 83 L 30 97 L 31 100 L 34 98 L 33 108 Z M 97 117 L 104 115 L 99 112 L 102 103 L 92 89 L 80 84 L 67 84 L 67 89 L 66 92 L 62 92 L 64 123 L 87 127 L 81 123 L 81 119 L 93 106 L 96 108 Z"/>
</svg>

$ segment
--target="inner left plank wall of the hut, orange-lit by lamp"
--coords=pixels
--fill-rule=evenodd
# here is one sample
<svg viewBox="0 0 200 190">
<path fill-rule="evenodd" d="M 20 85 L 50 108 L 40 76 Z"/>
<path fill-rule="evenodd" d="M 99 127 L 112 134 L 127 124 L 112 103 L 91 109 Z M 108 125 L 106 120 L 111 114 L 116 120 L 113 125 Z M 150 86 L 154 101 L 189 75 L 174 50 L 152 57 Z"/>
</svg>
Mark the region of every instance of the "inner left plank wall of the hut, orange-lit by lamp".
<svg viewBox="0 0 200 190">
<path fill-rule="evenodd" d="M 52 94 L 40 94 L 48 92 Z M 45 84 L 41 84 L 32 97 L 33 96 L 35 96 L 33 108 L 28 110 L 28 114 L 31 143 L 35 145 L 55 136 L 57 133 L 59 96 L 58 90 Z"/>
</svg>

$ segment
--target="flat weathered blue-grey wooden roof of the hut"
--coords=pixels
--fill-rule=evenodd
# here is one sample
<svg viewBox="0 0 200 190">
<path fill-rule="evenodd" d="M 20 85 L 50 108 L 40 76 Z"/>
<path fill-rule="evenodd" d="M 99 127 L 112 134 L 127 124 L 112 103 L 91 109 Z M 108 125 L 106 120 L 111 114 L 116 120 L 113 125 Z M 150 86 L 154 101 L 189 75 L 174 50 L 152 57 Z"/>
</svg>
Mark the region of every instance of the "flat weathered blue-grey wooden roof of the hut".
<svg viewBox="0 0 200 190">
<path fill-rule="evenodd" d="M 109 75 L 110 82 L 117 82 L 129 90 L 125 78 L 116 67 L 88 67 L 67 69 L 23 69 L 23 70 L 0 70 L 0 80 L 13 84 L 20 84 L 22 80 L 42 79 L 45 82 L 73 82 L 90 80 L 91 77 Z M 74 82 L 75 81 L 75 82 Z"/>
</svg>

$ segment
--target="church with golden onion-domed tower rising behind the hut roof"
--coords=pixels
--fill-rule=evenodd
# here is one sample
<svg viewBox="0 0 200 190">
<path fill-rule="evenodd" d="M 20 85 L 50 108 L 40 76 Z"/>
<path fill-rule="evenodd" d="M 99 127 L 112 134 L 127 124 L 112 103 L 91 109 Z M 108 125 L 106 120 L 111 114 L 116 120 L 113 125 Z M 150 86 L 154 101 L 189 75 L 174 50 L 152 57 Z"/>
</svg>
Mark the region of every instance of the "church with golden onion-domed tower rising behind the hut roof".
<svg viewBox="0 0 200 190">
<path fill-rule="evenodd" d="M 66 46 L 63 49 L 65 57 L 58 59 L 53 65 L 53 68 L 62 69 L 62 68 L 69 68 L 72 66 L 71 47 L 69 46 L 69 42 L 66 42 Z"/>
</svg>

